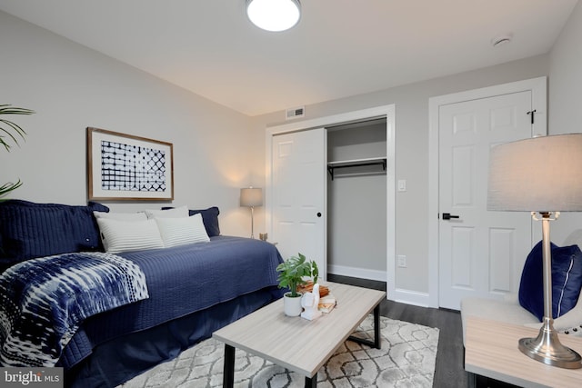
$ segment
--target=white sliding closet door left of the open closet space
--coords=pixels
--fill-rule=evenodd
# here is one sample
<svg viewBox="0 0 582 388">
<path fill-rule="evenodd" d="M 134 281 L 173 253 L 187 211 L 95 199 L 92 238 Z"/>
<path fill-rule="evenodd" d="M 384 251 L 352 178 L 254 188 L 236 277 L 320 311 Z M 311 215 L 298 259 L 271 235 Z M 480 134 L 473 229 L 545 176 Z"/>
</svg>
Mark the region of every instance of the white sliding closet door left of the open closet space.
<svg viewBox="0 0 582 388">
<path fill-rule="evenodd" d="M 314 260 L 326 279 L 326 129 L 272 139 L 272 241 L 283 259 Z"/>
</svg>

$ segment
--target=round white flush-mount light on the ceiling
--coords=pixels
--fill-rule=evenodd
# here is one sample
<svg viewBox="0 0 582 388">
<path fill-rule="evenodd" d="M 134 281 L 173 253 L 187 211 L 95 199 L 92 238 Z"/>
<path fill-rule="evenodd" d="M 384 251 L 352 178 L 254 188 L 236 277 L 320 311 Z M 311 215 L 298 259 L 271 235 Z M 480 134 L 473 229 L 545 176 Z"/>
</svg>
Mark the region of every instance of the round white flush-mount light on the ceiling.
<svg viewBox="0 0 582 388">
<path fill-rule="evenodd" d="M 266 31 L 285 31 L 299 21 L 301 4 L 299 0 L 246 0 L 246 15 Z"/>
</svg>

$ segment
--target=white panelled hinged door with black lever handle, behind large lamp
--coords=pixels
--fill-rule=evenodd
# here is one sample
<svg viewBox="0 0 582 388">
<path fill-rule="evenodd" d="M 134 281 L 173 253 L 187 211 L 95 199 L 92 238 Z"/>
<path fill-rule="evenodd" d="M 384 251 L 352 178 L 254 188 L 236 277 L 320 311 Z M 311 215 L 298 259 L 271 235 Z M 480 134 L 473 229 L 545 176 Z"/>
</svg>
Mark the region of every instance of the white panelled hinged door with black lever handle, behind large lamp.
<svg viewBox="0 0 582 388">
<path fill-rule="evenodd" d="M 531 249 L 529 214 L 487 211 L 489 149 L 532 137 L 532 93 L 439 107 L 439 305 L 517 292 Z M 445 214 L 458 218 L 446 219 Z"/>
</svg>

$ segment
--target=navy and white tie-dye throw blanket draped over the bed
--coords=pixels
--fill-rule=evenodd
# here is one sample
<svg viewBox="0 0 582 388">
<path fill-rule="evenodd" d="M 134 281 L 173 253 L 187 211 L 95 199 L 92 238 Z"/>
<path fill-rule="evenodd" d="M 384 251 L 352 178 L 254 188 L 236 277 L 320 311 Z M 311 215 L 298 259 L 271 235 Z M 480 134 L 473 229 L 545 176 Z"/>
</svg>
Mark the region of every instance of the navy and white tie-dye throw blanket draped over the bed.
<svg viewBox="0 0 582 388">
<path fill-rule="evenodd" d="M 0 275 L 0 366 L 54 366 L 85 318 L 148 297 L 142 270 L 115 254 L 15 264 Z"/>
</svg>

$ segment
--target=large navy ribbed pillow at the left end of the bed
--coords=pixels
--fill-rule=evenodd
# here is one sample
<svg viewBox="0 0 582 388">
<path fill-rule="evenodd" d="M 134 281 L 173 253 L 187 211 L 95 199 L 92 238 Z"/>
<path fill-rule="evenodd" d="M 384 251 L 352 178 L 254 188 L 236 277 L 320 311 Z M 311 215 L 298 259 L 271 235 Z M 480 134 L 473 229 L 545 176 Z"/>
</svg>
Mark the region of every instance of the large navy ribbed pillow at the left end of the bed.
<svg viewBox="0 0 582 388">
<path fill-rule="evenodd" d="M 34 257 L 102 250 L 93 211 L 109 209 L 95 202 L 86 206 L 0 202 L 0 264 Z"/>
</svg>

